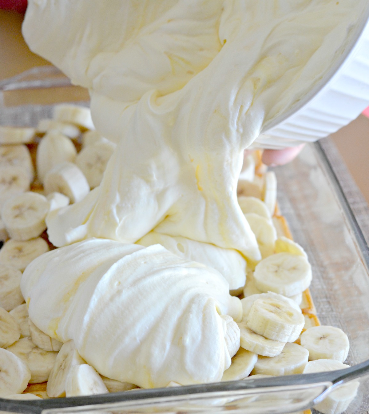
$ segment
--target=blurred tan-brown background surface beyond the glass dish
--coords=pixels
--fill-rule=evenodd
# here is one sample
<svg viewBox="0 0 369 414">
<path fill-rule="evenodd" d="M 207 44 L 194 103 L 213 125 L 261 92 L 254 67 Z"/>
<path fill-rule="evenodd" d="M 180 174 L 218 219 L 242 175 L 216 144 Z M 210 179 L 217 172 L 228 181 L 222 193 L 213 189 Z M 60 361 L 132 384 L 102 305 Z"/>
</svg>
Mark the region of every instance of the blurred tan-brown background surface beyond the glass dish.
<svg viewBox="0 0 369 414">
<path fill-rule="evenodd" d="M 22 15 L 0 11 L 0 80 L 49 64 L 27 47 L 21 34 L 22 19 Z M 369 203 L 369 119 L 359 116 L 333 134 L 333 140 Z"/>
</svg>

